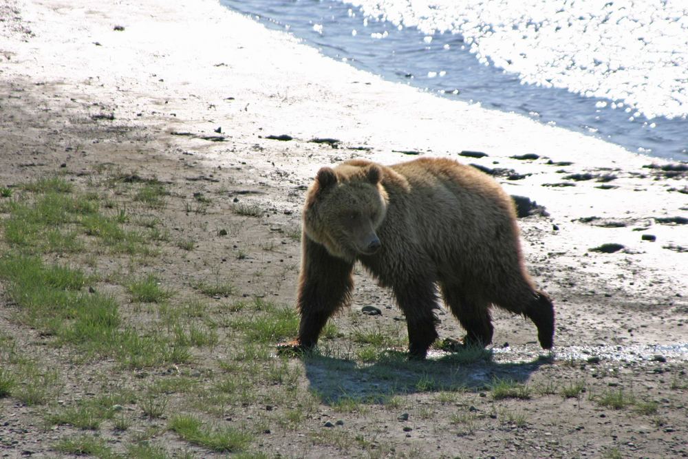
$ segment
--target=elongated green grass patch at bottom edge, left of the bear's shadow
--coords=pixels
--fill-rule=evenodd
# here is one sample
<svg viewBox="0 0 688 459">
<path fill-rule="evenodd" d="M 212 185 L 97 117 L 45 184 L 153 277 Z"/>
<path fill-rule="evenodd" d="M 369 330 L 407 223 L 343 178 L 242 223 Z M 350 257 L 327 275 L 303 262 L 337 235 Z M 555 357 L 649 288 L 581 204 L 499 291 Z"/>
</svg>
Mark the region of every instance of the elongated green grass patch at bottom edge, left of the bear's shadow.
<svg viewBox="0 0 688 459">
<path fill-rule="evenodd" d="M 231 427 L 208 428 L 199 418 L 190 415 L 174 416 L 170 420 L 168 428 L 183 440 L 219 452 L 245 451 L 253 440 L 250 434 Z"/>
</svg>

